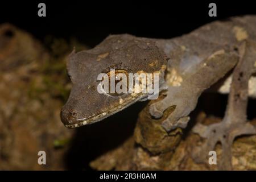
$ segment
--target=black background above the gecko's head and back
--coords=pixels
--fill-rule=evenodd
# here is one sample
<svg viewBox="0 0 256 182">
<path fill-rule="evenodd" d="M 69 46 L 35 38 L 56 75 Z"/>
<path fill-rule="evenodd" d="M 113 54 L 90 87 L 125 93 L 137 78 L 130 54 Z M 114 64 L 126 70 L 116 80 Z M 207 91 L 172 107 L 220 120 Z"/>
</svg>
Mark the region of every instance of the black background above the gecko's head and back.
<svg viewBox="0 0 256 182">
<path fill-rule="evenodd" d="M 46 17 L 38 3 L 46 3 Z M 210 2 L 217 17 L 208 16 Z M 255 14 L 254 1 L 1 1 L 0 23 L 10 22 L 37 38 L 75 36 L 94 46 L 109 34 L 172 38 L 207 22 L 233 15 Z"/>
</svg>

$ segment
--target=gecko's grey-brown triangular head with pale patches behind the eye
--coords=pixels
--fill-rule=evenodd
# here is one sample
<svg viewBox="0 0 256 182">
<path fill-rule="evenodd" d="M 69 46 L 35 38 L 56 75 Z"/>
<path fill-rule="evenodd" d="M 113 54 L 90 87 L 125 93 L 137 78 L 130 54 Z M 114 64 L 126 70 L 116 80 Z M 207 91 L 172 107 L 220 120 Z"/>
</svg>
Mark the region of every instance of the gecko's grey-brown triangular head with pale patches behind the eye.
<svg viewBox="0 0 256 182">
<path fill-rule="evenodd" d="M 115 89 L 113 93 L 110 77 L 114 75 L 115 88 L 120 81 L 127 82 L 123 77 L 116 81 L 118 73 L 127 76 L 128 80 L 129 73 L 159 73 L 161 84 L 166 64 L 167 57 L 155 46 L 155 42 L 127 34 L 108 36 L 90 50 L 73 51 L 67 61 L 72 89 L 67 103 L 61 109 L 61 121 L 67 127 L 79 127 L 101 121 L 125 109 L 147 97 L 148 93 L 117 93 Z M 103 86 L 102 80 L 109 85 Z M 127 85 L 123 84 L 120 88 L 126 88 Z"/>
</svg>

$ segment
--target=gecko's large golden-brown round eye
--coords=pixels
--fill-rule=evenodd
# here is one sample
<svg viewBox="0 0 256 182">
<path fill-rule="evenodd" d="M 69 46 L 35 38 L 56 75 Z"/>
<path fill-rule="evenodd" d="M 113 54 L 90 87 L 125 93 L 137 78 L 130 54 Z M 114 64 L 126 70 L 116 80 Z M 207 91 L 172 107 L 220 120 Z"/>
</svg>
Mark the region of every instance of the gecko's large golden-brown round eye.
<svg viewBox="0 0 256 182">
<path fill-rule="evenodd" d="M 114 69 L 107 73 L 109 77 L 109 95 L 121 96 L 128 92 L 128 72 L 125 69 Z"/>
</svg>

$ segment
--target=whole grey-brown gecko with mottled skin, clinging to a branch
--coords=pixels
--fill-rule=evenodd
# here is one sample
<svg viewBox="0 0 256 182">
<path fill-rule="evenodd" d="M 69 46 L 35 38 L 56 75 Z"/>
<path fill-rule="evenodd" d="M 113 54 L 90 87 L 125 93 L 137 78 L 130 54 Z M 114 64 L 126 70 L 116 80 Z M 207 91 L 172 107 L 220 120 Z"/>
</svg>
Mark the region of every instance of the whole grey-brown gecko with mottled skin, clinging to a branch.
<svg viewBox="0 0 256 182">
<path fill-rule="evenodd" d="M 61 109 L 61 121 L 70 128 L 101 121 L 139 100 L 147 93 L 113 95 L 97 92 L 97 76 L 111 69 L 122 73 L 159 73 L 159 94 L 163 99 L 149 106 L 152 117 L 162 118 L 168 133 L 185 128 L 204 90 L 221 78 L 220 93 L 229 93 L 225 117 L 220 123 L 197 123 L 193 133 L 205 138 L 192 158 L 206 163 L 208 152 L 222 145 L 219 169 L 232 169 L 232 143 L 240 135 L 256 134 L 247 121 L 248 97 L 256 96 L 256 16 L 216 21 L 173 39 L 112 35 L 88 51 L 72 52 L 67 63 L 73 88 Z M 232 75 L 231 72 L 233 71 Z"/>
</svg>

